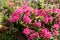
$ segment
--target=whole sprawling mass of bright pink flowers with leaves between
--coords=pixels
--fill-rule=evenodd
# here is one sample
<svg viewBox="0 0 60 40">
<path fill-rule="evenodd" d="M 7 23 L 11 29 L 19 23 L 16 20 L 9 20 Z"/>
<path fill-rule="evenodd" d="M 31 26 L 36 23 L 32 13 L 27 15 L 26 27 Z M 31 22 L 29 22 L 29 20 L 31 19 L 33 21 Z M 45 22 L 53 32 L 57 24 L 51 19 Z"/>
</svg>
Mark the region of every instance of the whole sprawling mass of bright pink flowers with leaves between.
<svg viewBox="0 0 60 40">
<path fill-rule="evenodd" d="M 21 21 L 26 26 L 23 29 L 23 33 L 27 36 L 28 40 L 38 36 L 51 39 L 59 35 L 60 9 L 33 9 L 27 6 L 27 2 L 24 2 L 24 6 L 16 9 L 10 18 L 11 23 Z"/>
</svg>

